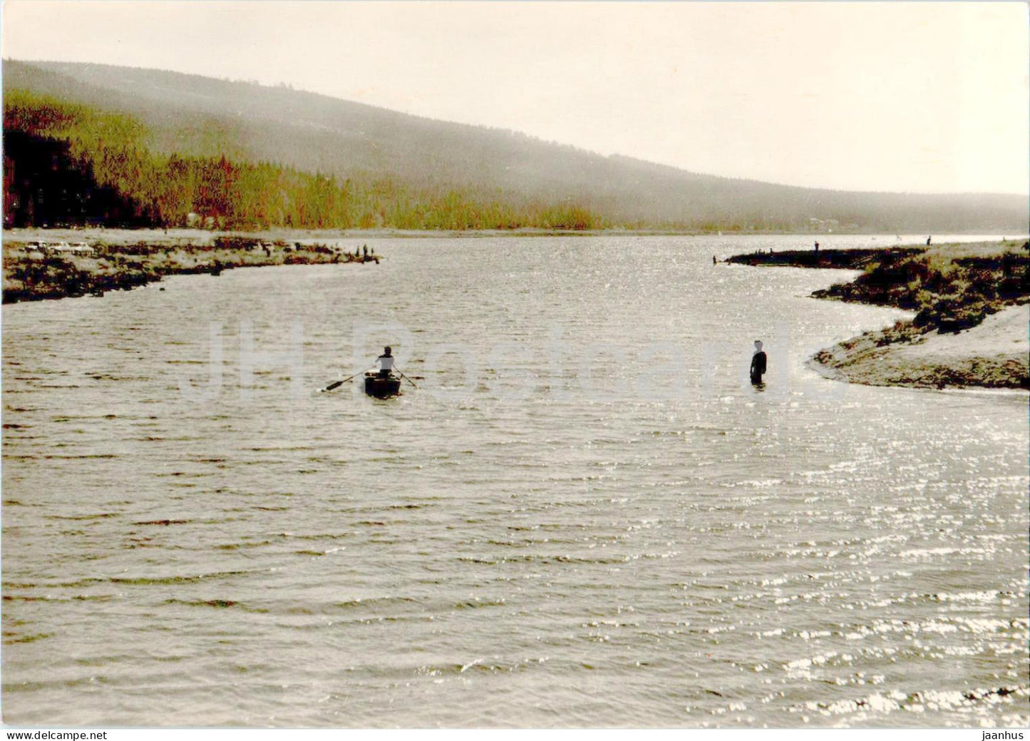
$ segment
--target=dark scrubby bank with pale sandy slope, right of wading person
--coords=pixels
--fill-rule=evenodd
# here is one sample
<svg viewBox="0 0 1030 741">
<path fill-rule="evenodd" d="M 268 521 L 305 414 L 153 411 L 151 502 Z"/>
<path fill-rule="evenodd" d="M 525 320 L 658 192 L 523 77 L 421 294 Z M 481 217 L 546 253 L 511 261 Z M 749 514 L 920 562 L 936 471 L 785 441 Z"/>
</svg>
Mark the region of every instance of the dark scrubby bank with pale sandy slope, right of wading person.
<svg viewBox="0 0 1030 741">
<path fill-rule="evenodd" d="M 818 352 L 813 360 L 831 375 L 870 385 L 1030 389 L 1030 242 L 754 252 L 727 262 L 861 269 L 813 296 L 916 312 Z"/>
</svg>

